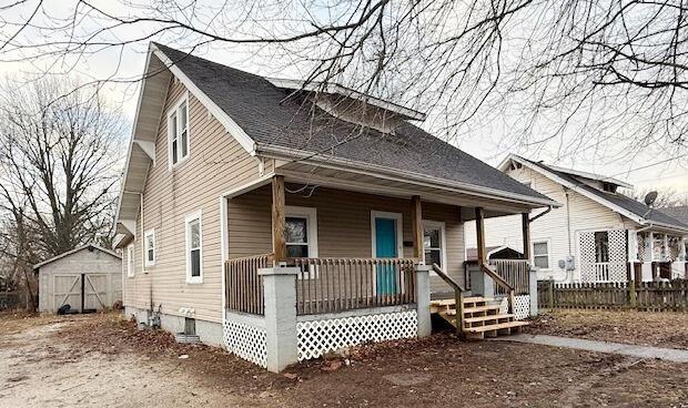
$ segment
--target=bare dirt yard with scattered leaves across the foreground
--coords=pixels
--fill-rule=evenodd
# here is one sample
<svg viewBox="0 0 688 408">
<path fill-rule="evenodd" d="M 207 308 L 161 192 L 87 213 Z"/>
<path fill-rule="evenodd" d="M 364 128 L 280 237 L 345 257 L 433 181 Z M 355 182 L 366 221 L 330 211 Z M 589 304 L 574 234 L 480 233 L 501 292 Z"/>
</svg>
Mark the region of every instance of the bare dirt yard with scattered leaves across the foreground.
<svg viewBox="0 0 688 408">
<path fill-rule="evenodd" d="M 274 375 L 118 315 L 0 315 L 0 407 L 688 407 L 688 365 L 658 360 L 439 334 L 348 363 Z"/>
</svg>

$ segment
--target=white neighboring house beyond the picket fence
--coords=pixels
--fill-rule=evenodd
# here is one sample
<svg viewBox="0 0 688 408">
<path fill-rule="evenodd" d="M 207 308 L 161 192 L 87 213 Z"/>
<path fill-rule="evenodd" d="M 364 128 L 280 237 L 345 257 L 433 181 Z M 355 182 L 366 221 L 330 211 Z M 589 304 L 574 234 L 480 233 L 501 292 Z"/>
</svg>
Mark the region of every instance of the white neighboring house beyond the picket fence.
<svg viewBox="0 0 688 408">
<path fill-rule="evenodd" d="M 685 276 L 688 224 L 617 192 L 631 185 L 512 154 L 498 169 L 561 203 L 530 225 L 538 278 L 557 282 L 652 280 Z M 487 245 L 522 248 L 520 220 L 486 221 Z M 475 233 L 466 224 L 466 243 Z"/>
</svg>

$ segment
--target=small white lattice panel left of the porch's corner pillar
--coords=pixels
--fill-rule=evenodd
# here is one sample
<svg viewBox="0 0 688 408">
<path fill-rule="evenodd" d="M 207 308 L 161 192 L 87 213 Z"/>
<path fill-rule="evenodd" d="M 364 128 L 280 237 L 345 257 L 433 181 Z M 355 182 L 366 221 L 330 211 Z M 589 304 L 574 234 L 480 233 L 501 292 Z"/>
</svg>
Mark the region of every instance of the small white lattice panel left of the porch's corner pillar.
<svg viewBox="0 0 688 408">
<path fill-rule="evenodd" d="M 239 357 L 267 367 L 267 346 L 265 327 L 234 320 L 230 316 L 224 320 L 224 344 L 226 349 Z"/>
</svg>

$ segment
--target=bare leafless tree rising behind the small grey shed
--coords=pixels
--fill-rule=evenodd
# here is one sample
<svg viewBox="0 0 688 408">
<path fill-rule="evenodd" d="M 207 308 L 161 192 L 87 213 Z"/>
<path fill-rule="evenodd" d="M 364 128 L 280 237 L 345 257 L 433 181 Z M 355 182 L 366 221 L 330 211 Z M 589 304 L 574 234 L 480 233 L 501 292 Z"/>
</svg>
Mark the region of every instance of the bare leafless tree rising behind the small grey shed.
<svg viewBox="0 0 688 408">
<path fill-rule="evenodd" d="M 53 256 L 112 233 L 124 125 L 118 111 L 73 81 L 0 92 L 0 216 L 18 241 Z M 23 246 L 22 246 L 23 245 Z M 26 244 L 28 245 L 28 244 Z M 17 242 L 18 254 L 24 244 Z"/>
</svg>

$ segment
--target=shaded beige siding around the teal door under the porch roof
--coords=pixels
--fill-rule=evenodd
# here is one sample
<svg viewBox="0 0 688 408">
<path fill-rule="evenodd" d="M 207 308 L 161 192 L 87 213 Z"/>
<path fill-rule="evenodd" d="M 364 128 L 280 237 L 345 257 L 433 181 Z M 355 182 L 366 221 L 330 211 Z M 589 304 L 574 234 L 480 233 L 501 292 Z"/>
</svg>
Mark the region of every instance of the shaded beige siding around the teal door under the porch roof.
<svg viewBox="0 0 688 408">
<path fill-rule="evenodd" d="M 289 191 L 300 186 L 287 185 Z M 411 200 L 385 197 L 342 190 L 318 187 L 286 193 L 286 205 L 315 207 L 317 212 L 317 244 L 320 257 L 372 257 L 371 212 L 402 213 L 403 239 L 411 242 Z M 230 257 L 272 252 L 271 186 L 234 197 L 229 203 Z M 423 217 L 446 224 L 447 272 L 463 283 L 463 225 L 456 206 L 423 203 Z M 404 256 L 412 256 L 404 247 Z M 439 278 L 432 280 L 434 292 L 446 290 Z"/>
</svg>

